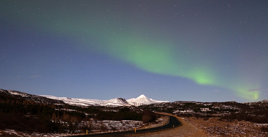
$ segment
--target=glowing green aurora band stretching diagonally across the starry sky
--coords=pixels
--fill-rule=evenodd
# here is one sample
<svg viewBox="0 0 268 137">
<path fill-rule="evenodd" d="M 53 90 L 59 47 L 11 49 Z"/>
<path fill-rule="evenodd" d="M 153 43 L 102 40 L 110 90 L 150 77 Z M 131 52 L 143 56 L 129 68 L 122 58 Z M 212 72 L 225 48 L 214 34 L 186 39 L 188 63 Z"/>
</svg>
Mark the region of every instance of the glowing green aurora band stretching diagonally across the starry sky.
<svg viewBox="0 0 268 137">
<path fill-rule="evenodd" d="M 155 35 L 147 35 L 146 32 L 150 32 L 152 28 L 148 24 L 136 25 L 142 28 L 139 29 L 125 23 L 119 17 L 108 18 L 112 16 L 108 14 L 97 16 L 101 13 L 87 14 L 75 10 L 64 13 L 67 10 L 50 8 L 50 12 L 54 14 L 48 14 L 49 11 L 44 12 L 42 9 L 9 14 L 11 17 L 20 18 L 23 24 L 32 26 L 33 30 L 37 29 L 35 26 L 42 26 L 38 28 L 42 32 L 77 38 L 76 42 L 81 43 L 78 45 L 80 50 L 105 53 L 111 58 L 122 60 L 150 73 L 183 77 L 199 85 L 231 89 L 244 99 L 259 99 L 260 84 L 258 82 L 252 84 L 239 76 L 246 73 L 246 71 L 239 72 L 238 69 L 242 66 L 237 64 L 238 68 L 234 68 L 237 74 L 233 75 L 226 73 L 228 71 L 221 66 L 217 66 L 217 59 L 210 58 L 204 61 L 206 54 L 210 54 L 209 49 L 200 55 L 198 51 L 201 48 L 183 42 L 179 44 L 170 42 L 168 35 L 161 36 L 163 35 L 161 31 L 156 32 Z M 9 8 L 6 11 L 9 12 Z M 92 43 L 96 46 L 92 46 Z"/>
</svg>

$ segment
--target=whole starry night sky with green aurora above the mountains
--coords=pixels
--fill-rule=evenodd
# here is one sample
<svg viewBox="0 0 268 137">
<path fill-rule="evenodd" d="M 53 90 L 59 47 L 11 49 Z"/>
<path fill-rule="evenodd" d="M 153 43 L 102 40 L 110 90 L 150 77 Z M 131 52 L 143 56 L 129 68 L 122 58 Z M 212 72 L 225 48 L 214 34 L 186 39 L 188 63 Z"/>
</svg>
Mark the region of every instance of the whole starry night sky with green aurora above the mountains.
<svg viewBox="0 0 268 137">
<path fill-rule="evenodd" d="M 268 99 L 265 0 L 5 0 L 0 24 L 0 89 L 101 100 Z"/>
</svg>

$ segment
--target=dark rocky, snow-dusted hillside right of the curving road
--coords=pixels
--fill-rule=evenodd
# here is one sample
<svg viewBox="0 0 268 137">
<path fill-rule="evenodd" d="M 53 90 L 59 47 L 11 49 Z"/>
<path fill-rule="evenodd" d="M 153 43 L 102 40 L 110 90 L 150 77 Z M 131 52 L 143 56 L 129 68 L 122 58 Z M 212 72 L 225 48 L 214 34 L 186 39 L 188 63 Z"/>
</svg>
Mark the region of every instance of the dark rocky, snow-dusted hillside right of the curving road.
<svg viewBox="0 0 268 137">
<path fill-rule="evenodd" d="M 264 101 L 260 103 L 177 101 L 141 105 L 139 108 L 155 112 L 171 113 L 181 117 L 204 119 L 217 117 L 219 120 L 227 122 L 238 120 L 268 124 L 268 106 Z"/>
</svg>

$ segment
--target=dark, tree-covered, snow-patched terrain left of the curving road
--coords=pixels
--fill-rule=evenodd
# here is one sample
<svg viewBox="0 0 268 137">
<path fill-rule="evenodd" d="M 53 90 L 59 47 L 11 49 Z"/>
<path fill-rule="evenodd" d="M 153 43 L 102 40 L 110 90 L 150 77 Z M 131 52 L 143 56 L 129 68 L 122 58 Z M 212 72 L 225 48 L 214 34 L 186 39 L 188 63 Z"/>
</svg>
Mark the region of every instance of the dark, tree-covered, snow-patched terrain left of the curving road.
<svg viewBox="0 0 268 137">
<path fill-rule="evenodd" d="M 135 106 L 74 106 L 62 101 L 0 90 L 0 130 L 26 133 L 94 133 L 132 130 L 161 115 Z M 109 123 L 109 124 L 107 124 Z"/>
</svg>

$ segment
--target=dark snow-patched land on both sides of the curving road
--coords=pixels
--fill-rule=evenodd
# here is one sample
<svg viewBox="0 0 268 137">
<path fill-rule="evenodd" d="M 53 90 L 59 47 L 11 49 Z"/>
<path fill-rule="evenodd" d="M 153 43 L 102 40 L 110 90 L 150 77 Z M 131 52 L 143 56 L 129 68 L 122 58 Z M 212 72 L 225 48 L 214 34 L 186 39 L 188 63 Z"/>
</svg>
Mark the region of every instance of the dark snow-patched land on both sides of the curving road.
<svg viewBox="0 0 268 137">
<path fill-rule="evenodd" d="M 133 130 L 135 127 L 146 128 L 165 121 L 164 115 L 153 112 L 175 115 L 182 121 L 183 126 L 165 131 L 166 135 L 170 132 L 169 135 L 180 133 L 182 136 L 266 136 L 267 102 L 177 101 L 138 107 L 81 107 L 27 93 L 10 94 L 1 89 L 0 136 L 64 136 L 85 134 L 86 131 L 116 132 Z M 187 126 L 192 129 L 187 129 Z M 189 135 L 182 133 L 185 130 L 188 130 Z M 144 135 L 149 134 L 153 133 Z M 159 131 L 154 135 L 163 136 L 164 133 Z"/>
</svg>

